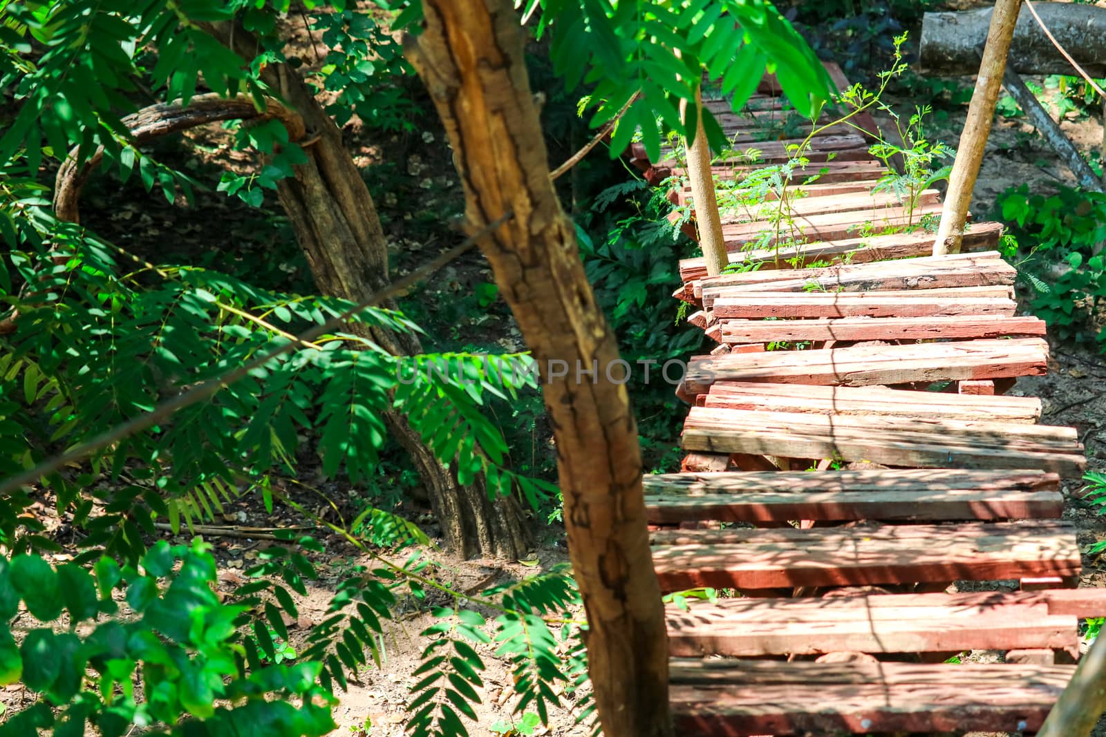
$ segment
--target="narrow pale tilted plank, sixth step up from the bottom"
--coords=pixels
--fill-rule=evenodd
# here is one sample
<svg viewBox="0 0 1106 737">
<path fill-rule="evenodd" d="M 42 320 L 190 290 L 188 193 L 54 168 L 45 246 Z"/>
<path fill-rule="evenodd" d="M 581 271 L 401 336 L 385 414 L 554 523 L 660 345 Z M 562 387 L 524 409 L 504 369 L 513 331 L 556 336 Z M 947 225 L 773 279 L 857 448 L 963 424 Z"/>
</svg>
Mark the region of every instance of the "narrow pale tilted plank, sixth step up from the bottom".
<svg viewBox="0 0 1106 737">
<path fill-rule="evenodd" d="M 732 410 L 1023 423 L 1041 419 L 1041 400 L 1035 397 L 981 397 L 885 387 L 722 381 L 714 383 L 702 399 L 701 407 Z"/>
</svg>

